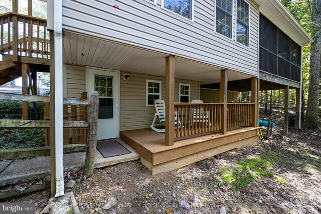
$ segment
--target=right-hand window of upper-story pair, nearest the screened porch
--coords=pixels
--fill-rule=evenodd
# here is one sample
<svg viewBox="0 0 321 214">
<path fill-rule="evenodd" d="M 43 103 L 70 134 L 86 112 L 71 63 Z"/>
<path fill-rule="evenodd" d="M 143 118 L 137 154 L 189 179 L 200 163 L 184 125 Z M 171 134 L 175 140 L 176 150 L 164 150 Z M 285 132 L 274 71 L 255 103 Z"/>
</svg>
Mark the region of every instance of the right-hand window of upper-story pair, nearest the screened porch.
<svg viewBox="0 0 321 214">
<path fill-rule="evenodd" d="M 236 42 L 249 46 L 250 5 L 244 0 L 237 0 Z"/>
</svg>

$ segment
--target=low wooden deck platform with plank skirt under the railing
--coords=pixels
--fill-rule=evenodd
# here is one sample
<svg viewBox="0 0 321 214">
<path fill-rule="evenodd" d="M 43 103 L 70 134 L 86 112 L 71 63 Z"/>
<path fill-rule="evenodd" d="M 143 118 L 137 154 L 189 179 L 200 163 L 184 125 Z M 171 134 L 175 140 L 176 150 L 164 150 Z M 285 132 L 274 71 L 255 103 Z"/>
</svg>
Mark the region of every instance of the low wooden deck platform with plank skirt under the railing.
<svg viewBox="0 0 321 214">
<path fill-rule="evenodd" d="M 227 131 L 226 134 L 209 132 L 175 138 L 173 146 L 165 145 L 165 133 L 149 128 L 121 131 L 120 138 L 135 149 L 141 162 L 152 174 L 170 171 L 235 148 L 258 142 L 255 127 Z"/>
</svg>

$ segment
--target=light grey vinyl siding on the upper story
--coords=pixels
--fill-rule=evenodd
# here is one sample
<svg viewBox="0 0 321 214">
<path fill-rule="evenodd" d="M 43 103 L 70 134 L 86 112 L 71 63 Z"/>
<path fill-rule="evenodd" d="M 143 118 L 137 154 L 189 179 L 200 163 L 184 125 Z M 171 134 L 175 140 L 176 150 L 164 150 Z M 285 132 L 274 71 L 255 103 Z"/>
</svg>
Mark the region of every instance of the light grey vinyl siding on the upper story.
<svg viewBox="0 0 321 214">
<path fill-rule="evenodd" d="M 257 74 L 258 8 L 251 1 L 250 47 L 214 33 L 214 1 L 194 1 L 194 23 L 136 1 L 63 1 L 63 28 L 111 41 Z M 115 9 L 112 5 L 118 5 Z M 236 14 L 234 4 L 234 14 Z M 235 16 L 234 16 L 235 18 Z"/>
</svg>

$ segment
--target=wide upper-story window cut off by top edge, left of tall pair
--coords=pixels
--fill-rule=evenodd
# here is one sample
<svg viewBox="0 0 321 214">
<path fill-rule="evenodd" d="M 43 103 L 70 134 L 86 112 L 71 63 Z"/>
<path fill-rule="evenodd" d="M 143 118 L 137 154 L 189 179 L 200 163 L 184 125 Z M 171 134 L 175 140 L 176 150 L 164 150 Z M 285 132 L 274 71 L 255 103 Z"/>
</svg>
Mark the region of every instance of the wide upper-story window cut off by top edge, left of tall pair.
<svg viewBox="0 0 321 214">
<path fill-rule="evenodd" d="M 162 8 L 193 20 L 193 0 L 162 0 Z"/>
</svg>

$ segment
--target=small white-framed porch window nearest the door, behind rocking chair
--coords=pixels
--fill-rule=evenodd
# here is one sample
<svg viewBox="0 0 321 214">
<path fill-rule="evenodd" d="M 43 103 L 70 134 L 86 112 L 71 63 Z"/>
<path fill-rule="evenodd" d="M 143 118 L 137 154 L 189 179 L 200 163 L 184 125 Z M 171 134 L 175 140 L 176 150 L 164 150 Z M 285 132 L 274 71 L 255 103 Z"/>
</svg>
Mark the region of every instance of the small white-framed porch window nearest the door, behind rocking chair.
<svg viewBox="0 0 321 214">
<path fill-rule="evenodd" d="M 146 106 L 153 106 L 157 99 L 162 99 L 162 81 L 146 80 Z"/>
</svg>

